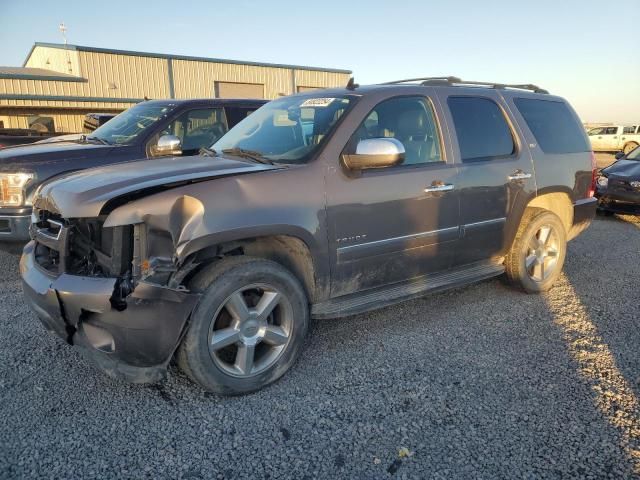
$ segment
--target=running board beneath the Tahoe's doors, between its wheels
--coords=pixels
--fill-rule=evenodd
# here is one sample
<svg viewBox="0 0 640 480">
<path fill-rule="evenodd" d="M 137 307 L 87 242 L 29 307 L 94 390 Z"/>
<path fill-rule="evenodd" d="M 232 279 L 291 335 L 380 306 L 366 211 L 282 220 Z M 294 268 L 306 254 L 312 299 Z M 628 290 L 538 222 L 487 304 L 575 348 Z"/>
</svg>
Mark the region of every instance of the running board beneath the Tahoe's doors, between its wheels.
<svg viewBox="0 0 640 480">
<path fill-rule="evenodd" d="M 457 288 L 504 272 L 504 265 L 474 263 L 469 266 L 435 275 L 413 278 L 392 285 L 350 293 L 311 306 L 313 318 L 337 318 L 375 310 L 404 302 L 427 293 Z"/>
</svg>

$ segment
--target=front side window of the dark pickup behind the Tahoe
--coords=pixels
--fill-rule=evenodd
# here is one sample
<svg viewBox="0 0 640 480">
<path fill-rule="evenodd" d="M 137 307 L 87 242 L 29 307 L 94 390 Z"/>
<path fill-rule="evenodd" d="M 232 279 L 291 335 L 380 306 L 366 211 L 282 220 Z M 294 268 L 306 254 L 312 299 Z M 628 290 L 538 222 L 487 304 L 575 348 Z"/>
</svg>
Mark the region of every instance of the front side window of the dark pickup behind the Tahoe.
<svg viewBox="0 0 640 480">
<path fill-rule="evenodd" d="M 227 132 L 222 108 L 201 108 L 184 112 L 160 135 L 175 135 L 182 142 L 182 151 L 198 151 L 217 142 Z"/>
</svg>

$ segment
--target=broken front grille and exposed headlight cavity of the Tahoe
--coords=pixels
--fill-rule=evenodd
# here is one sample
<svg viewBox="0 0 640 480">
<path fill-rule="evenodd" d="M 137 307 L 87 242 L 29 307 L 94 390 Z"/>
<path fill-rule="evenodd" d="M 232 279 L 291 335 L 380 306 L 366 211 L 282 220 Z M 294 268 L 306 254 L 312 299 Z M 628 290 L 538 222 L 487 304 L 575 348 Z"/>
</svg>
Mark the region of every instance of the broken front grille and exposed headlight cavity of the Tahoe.
<svg viewBox="0 0 640 480">
<path fill-rule="evenodd" d="M 107 277 L 131 268 L 132 227 L 104 228 L 104 218 L 69 220 L 42 210 L 34 214 L 36 261 L 47 271 Z"/>
</svg>

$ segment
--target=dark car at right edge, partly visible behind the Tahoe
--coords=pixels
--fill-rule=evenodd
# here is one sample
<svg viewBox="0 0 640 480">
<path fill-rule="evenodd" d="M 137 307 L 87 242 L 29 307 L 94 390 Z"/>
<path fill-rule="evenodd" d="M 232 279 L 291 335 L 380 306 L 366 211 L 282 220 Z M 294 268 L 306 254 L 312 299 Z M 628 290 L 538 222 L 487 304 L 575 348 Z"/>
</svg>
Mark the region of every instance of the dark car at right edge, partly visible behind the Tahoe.
<svg viewBox="0 0 640 480">
<path fill-rule="evenodd" d="M 598 210 L 604 214 L 640 214 L 640 148 L 616 155 L 597 181 Z"/>
</svg>

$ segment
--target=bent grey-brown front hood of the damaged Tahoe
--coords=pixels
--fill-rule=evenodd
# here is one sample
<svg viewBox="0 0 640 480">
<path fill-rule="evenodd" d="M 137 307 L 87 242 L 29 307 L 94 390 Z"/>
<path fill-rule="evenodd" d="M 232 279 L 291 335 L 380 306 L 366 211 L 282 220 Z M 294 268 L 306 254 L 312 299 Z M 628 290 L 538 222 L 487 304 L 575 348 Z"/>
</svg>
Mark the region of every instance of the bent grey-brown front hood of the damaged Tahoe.
<svg viewBox="0 0 640 480">
<path fill-rule="evenodd" d="M 40 187 L 33 204 L 64 218 L 91 218 L 123 195 L 139 197 L 185 183 L 278 168 L 205 156 L 126 162 L 57 177 Z"/>
</svg>

